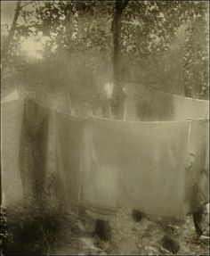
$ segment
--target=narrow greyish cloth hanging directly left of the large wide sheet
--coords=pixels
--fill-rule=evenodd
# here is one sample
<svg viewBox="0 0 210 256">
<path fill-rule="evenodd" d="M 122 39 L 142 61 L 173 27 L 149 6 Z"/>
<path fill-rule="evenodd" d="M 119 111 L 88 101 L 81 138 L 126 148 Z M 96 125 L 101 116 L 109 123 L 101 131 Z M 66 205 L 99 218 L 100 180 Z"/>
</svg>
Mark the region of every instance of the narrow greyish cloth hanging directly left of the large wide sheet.
<svg viewBox="0 0 210 256">
<path fill-rule="evenodd" d="M 81 150 L 84 120 L 55 112 L 56 160 L 63 190 L 63 202 L 77 210 L 81 188 Z"/>
</svg>

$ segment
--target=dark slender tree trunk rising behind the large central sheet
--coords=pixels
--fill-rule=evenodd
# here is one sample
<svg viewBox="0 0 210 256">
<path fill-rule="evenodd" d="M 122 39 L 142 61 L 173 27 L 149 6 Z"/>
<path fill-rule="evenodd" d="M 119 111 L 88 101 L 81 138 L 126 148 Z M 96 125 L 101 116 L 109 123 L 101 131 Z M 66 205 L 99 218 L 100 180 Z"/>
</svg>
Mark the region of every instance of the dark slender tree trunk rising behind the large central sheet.
<svg viewBox="0 0 210 256">
<path fill-rule="evenodd" d="M 129 0 L 116 0 L 115 15 L 112 21 L 113 33 L 113 72 L 114 88 L 111 99 L 111 109 L 116 119 L 122 119 L 125 105 L 125 95 L 122 88 L 122 79 L 120 74 L 120 33 L 122 13 Z"/>
</svg>

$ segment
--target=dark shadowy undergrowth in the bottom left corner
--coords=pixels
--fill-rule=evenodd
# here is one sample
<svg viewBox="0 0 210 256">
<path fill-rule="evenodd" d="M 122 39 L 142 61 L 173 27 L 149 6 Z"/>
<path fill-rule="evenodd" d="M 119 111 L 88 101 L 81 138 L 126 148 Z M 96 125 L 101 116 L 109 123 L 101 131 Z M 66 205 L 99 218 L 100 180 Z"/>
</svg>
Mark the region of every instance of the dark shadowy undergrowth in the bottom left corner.
<svg viewBox="0 0 210 256">
<path fill-rule="evenodd" d="M 43 255 L 52 253 L 58 244 L 65 243 L 67 229 L 74 227 L 74 216 L 54 204 L 44 208 L 35 202 L 22 202 L 7 208 L 6 255 Z"/>
</svg>

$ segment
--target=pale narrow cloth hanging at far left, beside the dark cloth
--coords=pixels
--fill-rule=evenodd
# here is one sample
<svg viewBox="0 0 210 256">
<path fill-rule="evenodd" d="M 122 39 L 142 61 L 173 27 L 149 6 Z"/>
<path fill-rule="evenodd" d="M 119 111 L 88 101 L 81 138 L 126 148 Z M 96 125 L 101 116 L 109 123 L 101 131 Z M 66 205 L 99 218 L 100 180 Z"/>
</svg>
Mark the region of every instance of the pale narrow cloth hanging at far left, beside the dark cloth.
<svg viewBox="0 0 210 256">
<path fill-rule="evenodd" d="M 16 99 L 1 103 L 1 165 L 3 205 L 20 202 L 23 187 L 20 178 L 19 149 L 23 101 Z"/>
</svg>

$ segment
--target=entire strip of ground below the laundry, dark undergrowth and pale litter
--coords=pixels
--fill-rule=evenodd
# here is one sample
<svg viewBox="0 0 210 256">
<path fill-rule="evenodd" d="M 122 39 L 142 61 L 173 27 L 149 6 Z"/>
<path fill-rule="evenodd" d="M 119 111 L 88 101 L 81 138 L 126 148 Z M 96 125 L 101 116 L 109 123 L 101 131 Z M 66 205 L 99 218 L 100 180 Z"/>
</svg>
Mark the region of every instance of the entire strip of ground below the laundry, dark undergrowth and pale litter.
<svg viewBox="0 0 210 256">
<path fill-rule="evenodd" d="M 93 236 L 95 221 L 85 212 L 78 218 L 61 207 L 39 211 L 31 205 L 19 206 L 8 211 L 7 227 L 2 225 L 4 214 L 1 218 L 1 227 L 5 226 L 8 233 L 1 230 L 1 239 L 8 245 L 4 252 L 5 255 L 172 255 L 161 242 L 166 235 L 163 224 L 147 217 L 135 222 L 131 213 L 128 208 L 117 211 L 116 218 L 110 222 L 111 240 L 105 243 Z M 209 234 L 209 225 L 203 224 Z M 180 243 L 178 254 L 209 255 L 209 241 L 198 239 L 192 217 L 173 227 L 174 238 Z"/>
</svg>

